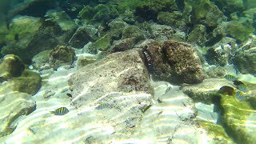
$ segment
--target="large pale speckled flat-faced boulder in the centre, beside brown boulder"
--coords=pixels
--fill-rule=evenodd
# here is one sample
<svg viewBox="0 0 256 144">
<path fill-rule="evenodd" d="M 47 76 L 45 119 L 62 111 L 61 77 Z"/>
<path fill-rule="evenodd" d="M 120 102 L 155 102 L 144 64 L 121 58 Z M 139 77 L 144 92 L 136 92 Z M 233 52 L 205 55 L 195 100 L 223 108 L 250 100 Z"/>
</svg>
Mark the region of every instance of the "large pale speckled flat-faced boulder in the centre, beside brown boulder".
<svg viewBox="0 0 256 144">
<path fill-rule="evenodd" d="M 76 107 L 90 106 L 91 101 L 113 91 L 153 94 L 150 75 L 138 49 L 110 54 L 82 67 L 70 77 L 69 84 Z"/>
</svg>

